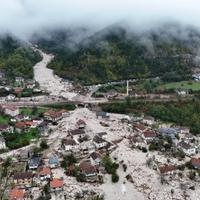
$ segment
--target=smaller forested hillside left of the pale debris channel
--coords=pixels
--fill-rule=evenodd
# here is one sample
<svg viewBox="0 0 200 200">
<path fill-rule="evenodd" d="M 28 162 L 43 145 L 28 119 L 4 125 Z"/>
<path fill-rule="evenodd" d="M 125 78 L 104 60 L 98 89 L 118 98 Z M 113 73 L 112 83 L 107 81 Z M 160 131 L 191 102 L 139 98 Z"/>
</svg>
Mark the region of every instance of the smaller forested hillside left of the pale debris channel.
<svg viewBox="0 0 200 200">
<path fill-rule="evenodd" d="M 0 38 L 0 70 L 3 70 L 9 79 L 16 76 L 33 78 L 33 65 L 41 57 L 26 44 L 6 36 Z"/>
</svg>

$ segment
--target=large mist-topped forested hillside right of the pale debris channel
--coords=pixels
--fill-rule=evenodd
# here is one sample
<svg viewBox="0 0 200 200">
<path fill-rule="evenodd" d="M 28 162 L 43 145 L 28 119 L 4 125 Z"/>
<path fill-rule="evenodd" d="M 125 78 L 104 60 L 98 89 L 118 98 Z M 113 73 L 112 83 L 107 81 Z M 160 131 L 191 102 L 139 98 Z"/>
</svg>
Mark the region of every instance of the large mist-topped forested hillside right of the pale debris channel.
<svg viewBox="0 0 200 200">
<path fill-rule="evenodd" d="M 143 34 L 108 28 L 73 48 L 70 34 L 62 31 L 40 39 L 38 44 L 55 54 L 49 67 L 56 74 L 84 84 L 155 76 L 165 81 L 188 79 L 196 66 L 200 35 L 191 29 L 183 36 L 179 30 L 174 34 L 168 28 Z"/>
</svg>

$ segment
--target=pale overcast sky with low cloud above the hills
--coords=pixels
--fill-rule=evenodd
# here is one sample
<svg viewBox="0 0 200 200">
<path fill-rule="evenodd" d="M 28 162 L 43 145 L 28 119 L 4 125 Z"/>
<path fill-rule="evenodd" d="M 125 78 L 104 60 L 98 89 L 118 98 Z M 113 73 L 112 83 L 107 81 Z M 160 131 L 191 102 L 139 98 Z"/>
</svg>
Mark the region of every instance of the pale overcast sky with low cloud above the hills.
<svg viewBox="0 0 200 200">
<path fill-rule="evenodd" d="M 200 0 L 0 0 L 0 33 L 21 38 L 45 28 L 133 29 L 176 21 L 200 27 Z"/>
</svg>

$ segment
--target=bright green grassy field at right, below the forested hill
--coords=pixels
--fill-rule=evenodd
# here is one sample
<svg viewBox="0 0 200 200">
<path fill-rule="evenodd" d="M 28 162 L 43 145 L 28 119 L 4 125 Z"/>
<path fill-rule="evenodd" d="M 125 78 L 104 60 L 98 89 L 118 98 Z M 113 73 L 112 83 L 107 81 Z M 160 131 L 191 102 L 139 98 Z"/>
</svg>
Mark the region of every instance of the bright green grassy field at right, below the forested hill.
<svg viewBox="0 0 200 200">
<path fill-rule="evenodd" d="M 183 90 L 192 90 L 192 91 L 200 91 L 200 82 L 196 81 L 181 81 L 181 82 L 173 82 L 161 84 L 158 86 L 159 90 L 171 90 L 171 89 L 183 89 Z"/>
</svg>

